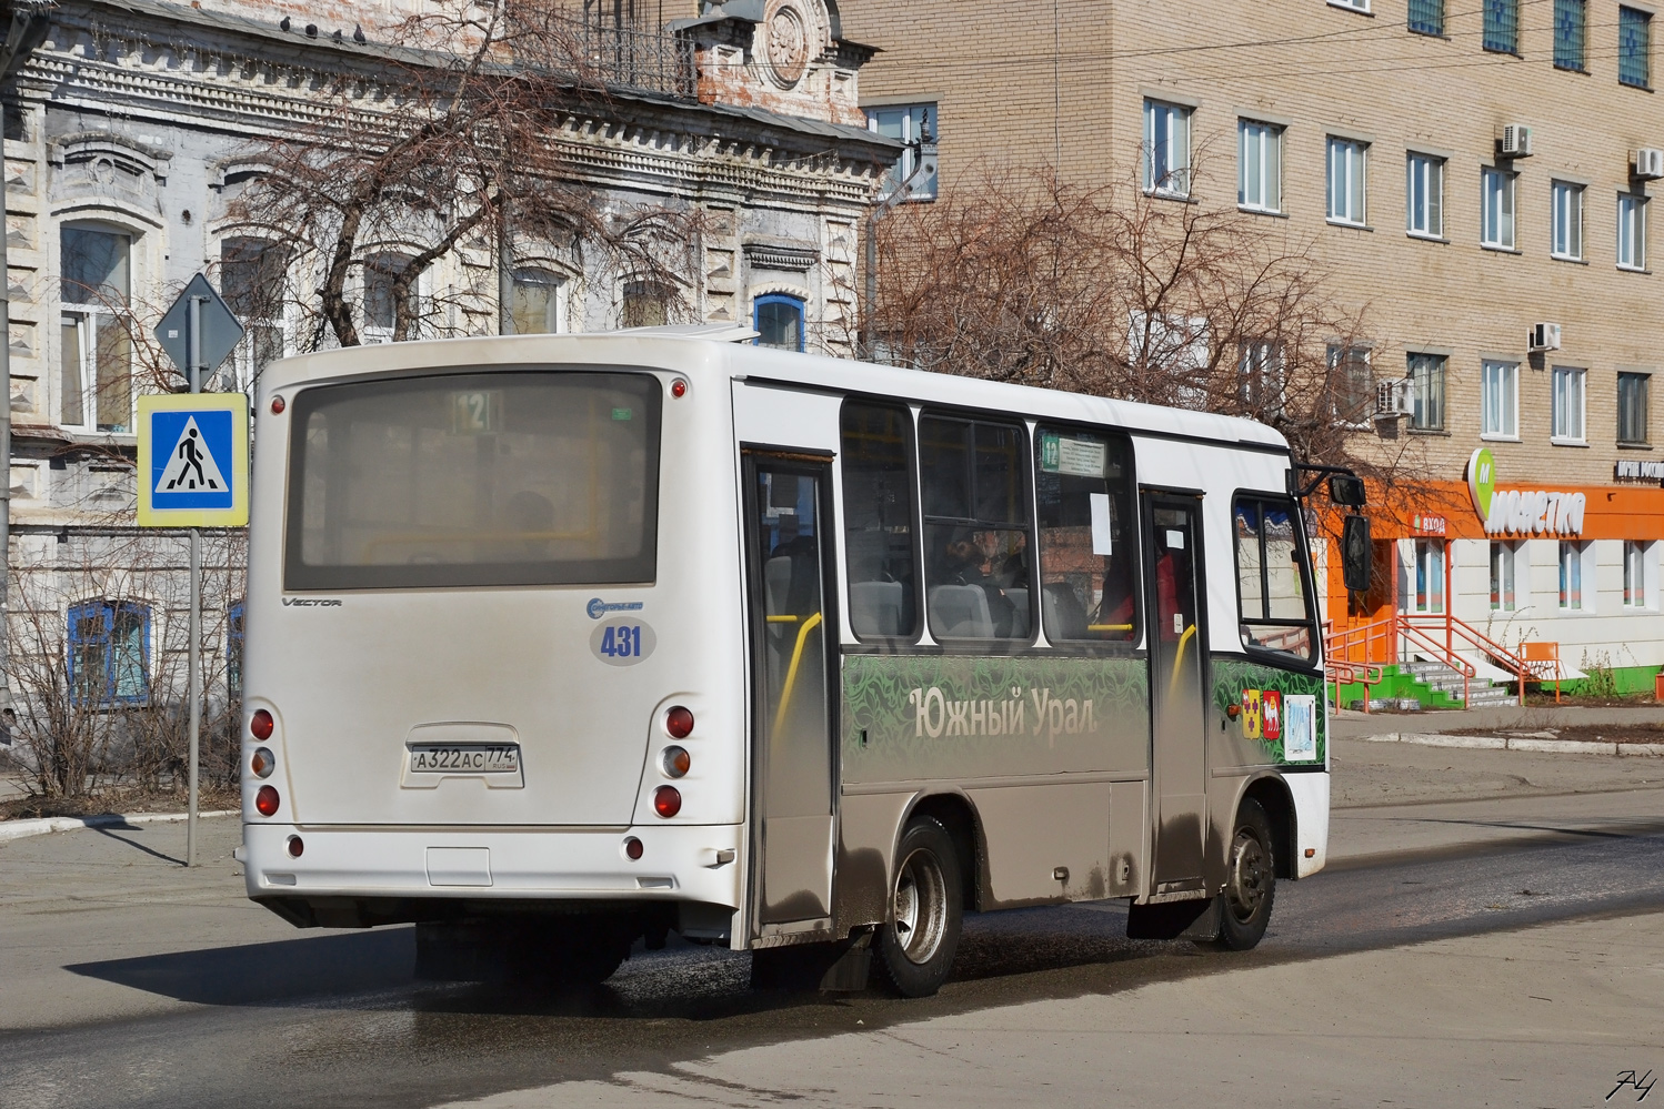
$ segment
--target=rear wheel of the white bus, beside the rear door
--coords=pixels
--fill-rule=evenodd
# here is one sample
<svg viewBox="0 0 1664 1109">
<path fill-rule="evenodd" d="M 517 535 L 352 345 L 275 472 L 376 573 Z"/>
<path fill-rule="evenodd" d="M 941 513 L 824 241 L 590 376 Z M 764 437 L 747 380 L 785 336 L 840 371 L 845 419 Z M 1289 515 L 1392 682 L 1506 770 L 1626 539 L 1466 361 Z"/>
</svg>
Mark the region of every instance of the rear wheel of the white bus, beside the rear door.
<svg viewBox="0 0 1664 1109">
<path fill-rule="evenodd" d="M 895 923 L 879 933 L 879 963 L 904 998 L 929 998 L 947 981 L 958 949 L 958 855 L 940 821 L 919 816 L 895 858 Z"/>
</svg>

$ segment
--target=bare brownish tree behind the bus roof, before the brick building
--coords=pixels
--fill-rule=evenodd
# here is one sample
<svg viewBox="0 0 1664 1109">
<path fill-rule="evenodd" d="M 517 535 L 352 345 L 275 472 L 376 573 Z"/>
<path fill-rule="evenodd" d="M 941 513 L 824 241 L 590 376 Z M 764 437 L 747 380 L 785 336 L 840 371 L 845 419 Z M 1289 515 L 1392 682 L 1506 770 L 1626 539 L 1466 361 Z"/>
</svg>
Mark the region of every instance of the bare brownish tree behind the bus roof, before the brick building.
<svg viewBox="0 0 1664 1109">
<path fill-rule="evenodd" d="M 1326 278 L 1311 238 L 1235 205 L 985 168 L 879 223 L 867 311 L 885 361 L 1250 416 L 1301 459 L 1411 479 L 1371 431 L 1368 306 Z"/>
</svg>

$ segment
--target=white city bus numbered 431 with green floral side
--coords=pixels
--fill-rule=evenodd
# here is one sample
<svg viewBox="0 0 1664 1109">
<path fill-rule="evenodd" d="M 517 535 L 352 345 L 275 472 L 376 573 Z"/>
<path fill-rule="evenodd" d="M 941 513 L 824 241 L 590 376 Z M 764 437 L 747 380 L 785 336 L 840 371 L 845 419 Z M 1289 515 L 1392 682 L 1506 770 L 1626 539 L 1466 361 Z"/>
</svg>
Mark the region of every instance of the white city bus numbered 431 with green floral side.
<svg viewBox="0 0 1664 1109">
<path fill-rule="evenodd" d="M 266 369 L 248 895 L 567 981 L 677 931 L 920 996 L 1105 898 L 1251 948 L 1330 810 L 1283 437 L 674 331 Z"/>
</svg>

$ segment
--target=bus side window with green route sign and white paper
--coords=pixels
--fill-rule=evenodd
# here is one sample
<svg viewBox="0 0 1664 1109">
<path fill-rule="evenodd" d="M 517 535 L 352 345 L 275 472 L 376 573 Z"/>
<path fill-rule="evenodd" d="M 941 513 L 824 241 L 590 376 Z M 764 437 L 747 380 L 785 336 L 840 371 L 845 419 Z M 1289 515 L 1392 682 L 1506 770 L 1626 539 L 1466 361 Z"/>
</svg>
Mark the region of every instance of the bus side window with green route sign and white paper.
<svg viewBox="0 0 1664 1109">
<path fill-rule="evenodd" d="M 1040 609 L 1053 642 L 1137 637 L 1132 471 L 1122 436 L 1045 424 L 1035 431 Z"/>
</svg>

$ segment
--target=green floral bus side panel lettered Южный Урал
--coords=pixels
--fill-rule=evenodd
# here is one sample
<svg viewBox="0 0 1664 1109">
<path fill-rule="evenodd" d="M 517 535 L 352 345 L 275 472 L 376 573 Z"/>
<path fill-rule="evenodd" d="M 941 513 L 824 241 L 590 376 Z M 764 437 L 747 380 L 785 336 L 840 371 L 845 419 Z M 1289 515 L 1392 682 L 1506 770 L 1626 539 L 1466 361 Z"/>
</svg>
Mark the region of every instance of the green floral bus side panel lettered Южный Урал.
<svg viewBox="0 0 1664 1109">
<path fill-rule="evenodd" d="M 1142 771 L 1143 658 L 845 655 L 844 781 Z"/>
</svg>

